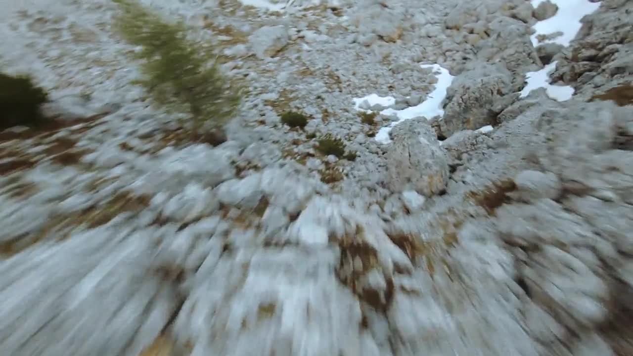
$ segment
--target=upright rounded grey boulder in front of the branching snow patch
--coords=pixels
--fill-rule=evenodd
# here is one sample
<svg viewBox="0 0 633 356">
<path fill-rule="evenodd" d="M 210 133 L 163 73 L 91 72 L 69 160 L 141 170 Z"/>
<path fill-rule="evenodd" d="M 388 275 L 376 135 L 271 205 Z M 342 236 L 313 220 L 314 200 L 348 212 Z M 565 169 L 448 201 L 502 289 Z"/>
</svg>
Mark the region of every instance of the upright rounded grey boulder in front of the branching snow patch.
<svg viewBox="0 0 633 356">
<path fill-rule="evenodd" d="M 425 118 L 413 118 L 392 129 L 387 151 L 389 189 L 433 196 L 446 188 L 448 156 Z"/>
</svg>

